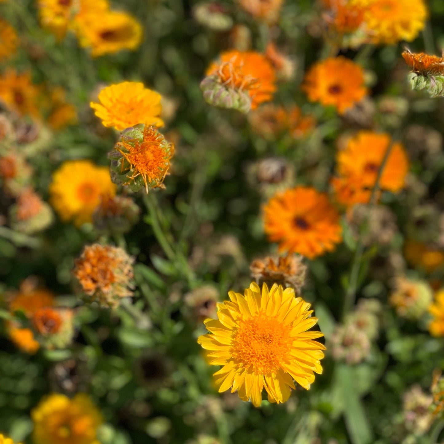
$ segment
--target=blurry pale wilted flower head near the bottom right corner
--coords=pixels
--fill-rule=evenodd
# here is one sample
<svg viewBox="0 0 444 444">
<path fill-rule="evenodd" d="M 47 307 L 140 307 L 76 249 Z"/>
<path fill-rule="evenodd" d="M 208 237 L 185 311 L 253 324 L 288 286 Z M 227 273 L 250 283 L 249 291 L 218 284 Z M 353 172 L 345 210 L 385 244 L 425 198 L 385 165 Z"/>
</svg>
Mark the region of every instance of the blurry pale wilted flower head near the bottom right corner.
<svg viewBox="0 0 444 444">
<path fill-rule="evenodd" d="M 404 426 L 409 432 L 423 435 L 432 424 L 430 405 L 432 396 L 421 389 L 419 384 L 413 385 L 403 396 Z"/>
</svg>

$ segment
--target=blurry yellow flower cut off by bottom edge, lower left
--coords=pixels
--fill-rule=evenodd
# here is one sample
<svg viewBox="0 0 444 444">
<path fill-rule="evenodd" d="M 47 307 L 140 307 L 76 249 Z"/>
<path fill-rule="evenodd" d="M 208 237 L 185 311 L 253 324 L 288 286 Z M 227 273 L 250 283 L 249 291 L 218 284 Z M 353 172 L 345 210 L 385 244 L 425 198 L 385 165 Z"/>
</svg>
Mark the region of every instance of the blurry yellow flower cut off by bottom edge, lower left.
<svg viewBox="0 0 444 444">
<path fill-rule="evenodd" d="M 103 419 L 90 398 L 52 394 L 32 411 L 35 444 L 99 444 L 97 428 Z"/>
</svg>

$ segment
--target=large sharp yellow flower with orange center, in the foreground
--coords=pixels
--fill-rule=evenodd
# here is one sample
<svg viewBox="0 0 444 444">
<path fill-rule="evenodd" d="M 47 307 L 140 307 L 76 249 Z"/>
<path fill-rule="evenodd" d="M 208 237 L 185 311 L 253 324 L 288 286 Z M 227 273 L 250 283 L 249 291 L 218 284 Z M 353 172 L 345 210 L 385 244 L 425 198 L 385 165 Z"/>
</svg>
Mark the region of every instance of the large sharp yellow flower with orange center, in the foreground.
<svg viewBox="0 0 444 444">
<path fill-rule="evenodd" d="M 265 388 L 270 402 L 285 402 L 293 379 L 305 389 L 322 373 L 324 345 L 313 341 L 324 336 L 307 331 L 317 323 L 313 310 L 292 288 L 274 284 L 269 290 L 251 283 L 245 296 L 230 291 L 231 301 L 218 304 L 218 320 L 206 319 L 213 334 L 198 338 L 209 363 L 223 365 L 214 373 L 219 392 L 231 387 L 239 397 L 258 407 Z"/>
</svg>

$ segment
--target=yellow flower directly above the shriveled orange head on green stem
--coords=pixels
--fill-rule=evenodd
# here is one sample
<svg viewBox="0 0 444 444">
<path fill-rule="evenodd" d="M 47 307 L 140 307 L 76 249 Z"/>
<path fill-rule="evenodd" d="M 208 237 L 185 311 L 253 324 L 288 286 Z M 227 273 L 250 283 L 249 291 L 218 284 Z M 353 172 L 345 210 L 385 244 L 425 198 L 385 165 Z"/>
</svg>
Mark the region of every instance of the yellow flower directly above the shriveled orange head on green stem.
<svg viewBox="0 0 444 444">
<path fill-rule="evenodd" d="M 145 88 L 143 83 L 122 82 L 103 88 L 100 103 L 90 105 L 105 127 L 123 131 L 139 123 L 163 127 L 160 99 L 158 92 Z"/>
</svg>

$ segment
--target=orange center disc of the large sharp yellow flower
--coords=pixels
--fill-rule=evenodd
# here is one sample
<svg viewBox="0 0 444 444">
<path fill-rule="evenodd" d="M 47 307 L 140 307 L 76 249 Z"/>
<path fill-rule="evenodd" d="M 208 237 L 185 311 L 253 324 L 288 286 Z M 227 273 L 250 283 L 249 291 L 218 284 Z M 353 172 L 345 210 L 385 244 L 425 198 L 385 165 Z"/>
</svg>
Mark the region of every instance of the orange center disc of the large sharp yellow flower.
<svg viewBox="0 0 444 444">
<path fill-rule="evenodd" d="M 283 362 L 290 359 L 293 338 L 290 326 L 282 325 L 276 317 L 264 312 L 240 320 L 234 332 L 230 354 L 245 369 L 257 374 L 276 372 Z"/>
</svg>

